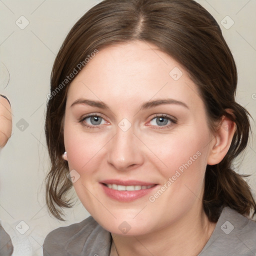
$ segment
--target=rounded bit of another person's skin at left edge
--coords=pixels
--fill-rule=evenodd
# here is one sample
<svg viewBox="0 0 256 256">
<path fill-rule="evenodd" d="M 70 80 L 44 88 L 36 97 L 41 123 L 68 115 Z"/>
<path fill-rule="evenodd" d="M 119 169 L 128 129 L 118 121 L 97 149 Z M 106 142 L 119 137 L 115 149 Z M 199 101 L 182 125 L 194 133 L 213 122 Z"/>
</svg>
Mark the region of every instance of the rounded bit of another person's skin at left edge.
<svg viewBox="0 0 256 256">
<path fill-rule="evenodd" d="M 0 148 L 7 143 L 12 128 L 11 108 L 8 100 L 0 96 Z"/>
</svg>

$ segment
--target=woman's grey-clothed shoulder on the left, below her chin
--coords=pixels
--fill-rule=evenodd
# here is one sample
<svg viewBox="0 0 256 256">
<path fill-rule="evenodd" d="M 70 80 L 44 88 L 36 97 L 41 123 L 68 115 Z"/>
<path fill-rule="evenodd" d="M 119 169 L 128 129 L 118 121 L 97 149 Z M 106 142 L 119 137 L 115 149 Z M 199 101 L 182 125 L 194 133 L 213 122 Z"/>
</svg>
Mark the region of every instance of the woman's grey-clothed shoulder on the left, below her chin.
<svg viewBox="0 0 256 256">
<path fill-rule="evenodd" d="M 43 255 L 109 255 L 110 241 L 110 233 L 89 216 L 79 223 L 48 233 L 43 242 Z"/>
</svg>

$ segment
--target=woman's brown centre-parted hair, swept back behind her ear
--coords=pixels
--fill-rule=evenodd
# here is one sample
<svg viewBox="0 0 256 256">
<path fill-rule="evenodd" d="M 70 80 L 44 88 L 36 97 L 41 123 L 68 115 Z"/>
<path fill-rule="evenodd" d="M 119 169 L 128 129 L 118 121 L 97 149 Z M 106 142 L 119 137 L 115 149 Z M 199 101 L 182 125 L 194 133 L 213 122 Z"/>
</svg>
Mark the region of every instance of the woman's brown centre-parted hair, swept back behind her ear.
<svg viewBox="0 0 256 256">
<path fill-rule="evenodd" d="M 243 176 L 232 167 L 233 159 L 246 147 L 250 131 L 249 113 L 235 102 L 236 66 L 211 14 L 193 0 L 103 0 L 88 10 L 66 36 L 53 64 L 51 94 L 47 103 L 45 134 L 51 168 L 46 177 L 49 211 L 63 219 L 62 207 L 71 207 L 66 193 L 72 183 L 66 177 L 62 119 L 70 79 L 56 91 L 78 63 L 95 49 L 132 40 L 156 45 L 172 56 L 198 86 L 209 127 L 223 115 L 235 122 L 231 146 L 223 160 L 207 165 L 203 207 L 210 221 L 217 221 L 221 208 L 229 206 L 241 214 L 256 213 L 256 203 Z M 77 70 L 78 69 L 78 70 Z M 55 93 L 53 93 L 55 91 Z M 233 115 L 226 109 L 232 110 Z"/>
</svg>

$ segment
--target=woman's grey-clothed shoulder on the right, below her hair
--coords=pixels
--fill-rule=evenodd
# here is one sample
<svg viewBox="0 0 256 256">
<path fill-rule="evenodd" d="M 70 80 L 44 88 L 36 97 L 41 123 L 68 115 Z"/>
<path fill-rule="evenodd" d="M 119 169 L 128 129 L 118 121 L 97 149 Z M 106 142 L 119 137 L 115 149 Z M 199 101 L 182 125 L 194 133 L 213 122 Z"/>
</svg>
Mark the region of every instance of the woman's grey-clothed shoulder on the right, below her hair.
<svg viewBox="0 0 256 256">
<path fill-rule="evenodd" d="M 200 256 L 256 255 L 256 222 L 224 207 Z"/>
</svg>

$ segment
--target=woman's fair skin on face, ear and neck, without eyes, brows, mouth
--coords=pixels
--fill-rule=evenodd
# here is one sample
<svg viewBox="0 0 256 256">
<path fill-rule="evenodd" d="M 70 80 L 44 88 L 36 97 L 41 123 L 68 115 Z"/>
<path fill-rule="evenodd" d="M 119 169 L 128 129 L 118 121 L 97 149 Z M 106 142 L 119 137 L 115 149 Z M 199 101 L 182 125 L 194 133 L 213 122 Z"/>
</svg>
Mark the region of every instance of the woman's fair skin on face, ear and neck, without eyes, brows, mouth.
<svg viewBox="0 0 256 256">
<path fill-rule="evenodd" d="M 178 67 L 182 76 L 169 72 Z M 72 103 L 99 100 L 109 109 Z M 172 98 L 181 104 L 160 104 L 140 110 L 148 100 Z M 71 106 L 72 105 L 72 106 Z M 93 126 L 89 114 L 100 114 Z M 161 125 L 155 114 L 176 120 Z M 126 118 L 127 131 L 118 127 Z M 202 208 L 207 164 L 224 157 L 235 130 L 222 119 L 217 134 L 207 126 L 205 106 L 184 68 L 150 43 L 133 41 L 106 47 L 90 60 L 68 88 L 64 115 L 64 144 L 69 169 L 80 177 L 75 191 L 93 218 L 111 232 L 120 256 L 197 255 L 215 223 Z M 88 128 L 85 124 L 93 126 Z M 170 124 L 170 125 L 169 125 Z M 96 127 L 96 128 L 95 128 Z M 200 156 L 153 202 L 153 195 L 196 152 Z M 153 192 L 130 202 L 109 198 L 103 179 L 135 179 L 157 184 Z M 124 234 L 118 227 L 126 221 Z"/>
</svg>

